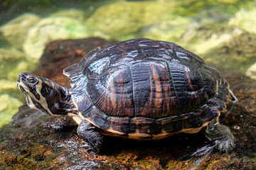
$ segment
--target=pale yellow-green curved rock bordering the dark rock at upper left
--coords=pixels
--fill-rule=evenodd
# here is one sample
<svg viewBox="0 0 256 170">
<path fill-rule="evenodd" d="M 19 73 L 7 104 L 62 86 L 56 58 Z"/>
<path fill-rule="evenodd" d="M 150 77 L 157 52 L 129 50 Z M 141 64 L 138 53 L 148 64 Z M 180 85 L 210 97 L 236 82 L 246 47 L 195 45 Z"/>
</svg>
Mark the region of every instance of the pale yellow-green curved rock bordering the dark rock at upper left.
<svg viewBox="0 0 256 170">
<path fill-rule="evenodd" d="M 66 38 L 88 37 L 87 26 L 68 16 L 43 18 L 28 31 L 23 44 L 28 61 L 38 62 L 48 42 Z"/>
</svg>

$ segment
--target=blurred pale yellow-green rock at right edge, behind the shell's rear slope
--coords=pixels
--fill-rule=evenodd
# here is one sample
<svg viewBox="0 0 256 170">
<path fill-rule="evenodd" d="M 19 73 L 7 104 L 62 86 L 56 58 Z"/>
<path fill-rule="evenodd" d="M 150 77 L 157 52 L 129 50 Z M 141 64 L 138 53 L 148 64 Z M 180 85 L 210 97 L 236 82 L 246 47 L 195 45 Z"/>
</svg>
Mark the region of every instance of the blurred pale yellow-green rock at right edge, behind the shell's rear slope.
<svg viewBox="0 0 256 170">
<path fill-rule="evenodd" d="M 256 36 L 240 28 L 191 25 L 180 40 L 206 62 L 223 68 L 245 73 L 256 62 Z"/>
</svg>

